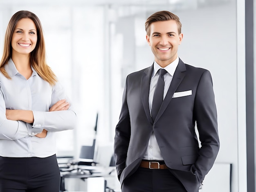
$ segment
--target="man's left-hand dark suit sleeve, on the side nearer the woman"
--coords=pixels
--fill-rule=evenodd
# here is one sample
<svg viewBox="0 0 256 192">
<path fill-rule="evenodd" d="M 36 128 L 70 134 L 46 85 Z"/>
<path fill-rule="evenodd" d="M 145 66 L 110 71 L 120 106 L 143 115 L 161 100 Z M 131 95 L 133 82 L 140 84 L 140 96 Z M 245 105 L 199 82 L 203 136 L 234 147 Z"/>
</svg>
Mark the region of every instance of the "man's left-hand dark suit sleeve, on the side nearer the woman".
<svg viewBox="0 0 256 192">
<path fill-rule="evenodd" d="M 120 179 L 121 173 L 126 167 L 126 157 L 130 142 L 130 115 L 126 100 L 127 81 L 128 79 L 126 78 L 121 113 L 115 129 L 114 156 L 118 179 Z"/>
</svg>

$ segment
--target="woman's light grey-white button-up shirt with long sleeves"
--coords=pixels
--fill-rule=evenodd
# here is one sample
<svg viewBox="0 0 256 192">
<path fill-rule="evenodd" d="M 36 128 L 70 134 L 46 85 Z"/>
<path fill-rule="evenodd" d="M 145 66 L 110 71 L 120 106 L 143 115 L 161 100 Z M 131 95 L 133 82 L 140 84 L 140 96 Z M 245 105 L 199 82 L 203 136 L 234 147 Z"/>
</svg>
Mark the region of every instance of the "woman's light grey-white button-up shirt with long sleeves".
<svg viewBox="0 0 256 192">
<path fill-rule="evenodd" d="M 33 67 L 27 80 L 11 59 L 4 67 L 11 79 L 0 73 L 0 156 L 47 157 L 56 154 L 56 132 L 74 129 L 76 125 L 76 114 L 63 87 L 58 82 L 51 86 Z M 69 109 L 49 112 L 50 107 L 61 99 L 70 103 Z M 7 120 L 6 109 L 31 110 L 33 125 Z M 45 138 L 34 136 L 43 129 L 48 131 Z"/>
</svg>

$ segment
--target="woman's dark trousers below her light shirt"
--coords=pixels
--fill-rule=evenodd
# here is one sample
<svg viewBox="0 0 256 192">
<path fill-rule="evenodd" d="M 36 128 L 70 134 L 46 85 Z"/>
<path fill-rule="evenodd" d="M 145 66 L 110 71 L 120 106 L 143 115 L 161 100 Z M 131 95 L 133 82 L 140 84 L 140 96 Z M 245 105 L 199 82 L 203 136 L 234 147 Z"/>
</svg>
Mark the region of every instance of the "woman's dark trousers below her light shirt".
<svg viewBox="0 0 256 192">
<path fill-rule="evenodd" d="M 59 192 L 56 155 L 46 158 L 0 156 L 0 192 Z"/>
</svg>

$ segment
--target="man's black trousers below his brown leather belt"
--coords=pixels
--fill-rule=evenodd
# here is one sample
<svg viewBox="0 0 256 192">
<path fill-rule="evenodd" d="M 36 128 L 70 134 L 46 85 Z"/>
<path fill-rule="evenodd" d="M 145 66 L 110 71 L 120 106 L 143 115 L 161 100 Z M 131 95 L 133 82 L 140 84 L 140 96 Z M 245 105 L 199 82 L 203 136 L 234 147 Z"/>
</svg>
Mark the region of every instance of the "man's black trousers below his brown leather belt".
<svg viewBox="0 0 256 192">
<path fill-rule="evenodd" d="M 121 190 L 122 192 L 187 192 L 168 169 L 142 167 L 124 179 Z"/>
</svg>

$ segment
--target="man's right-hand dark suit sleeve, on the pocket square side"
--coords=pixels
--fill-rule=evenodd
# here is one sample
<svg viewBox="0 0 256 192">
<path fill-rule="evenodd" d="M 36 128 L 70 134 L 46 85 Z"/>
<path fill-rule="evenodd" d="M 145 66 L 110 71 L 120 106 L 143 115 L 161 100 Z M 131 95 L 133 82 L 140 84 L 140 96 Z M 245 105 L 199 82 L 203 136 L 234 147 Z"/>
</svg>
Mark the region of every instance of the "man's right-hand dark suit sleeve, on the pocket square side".
<svg viewBox="0 0 256 192">
<path fill-rule="evenodd" d="M 195 96 L 194 115 L 201 147 L 198 160 L 192 169 L 198 176 L 200 182 L 202 182 L 205 175 L 213 166 L 220 148 L 213 83 L 211 74 L 207 70 L 202 74 L 198 84 Z"/>
</svg>

